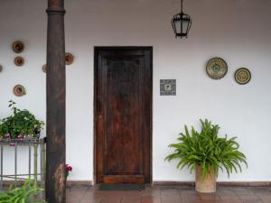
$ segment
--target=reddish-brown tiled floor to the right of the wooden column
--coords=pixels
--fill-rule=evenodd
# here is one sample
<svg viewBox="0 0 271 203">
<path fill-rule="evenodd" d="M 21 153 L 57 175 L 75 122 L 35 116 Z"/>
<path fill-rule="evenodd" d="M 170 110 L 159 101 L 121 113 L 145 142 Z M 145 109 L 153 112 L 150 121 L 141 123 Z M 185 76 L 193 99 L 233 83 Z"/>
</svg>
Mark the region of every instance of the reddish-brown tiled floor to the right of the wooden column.
<svg viewBox="0 0 271 203">
<path fill-rule="evenodd" d="M 145 191 L 99 191 L 95 187 L 67 189 L 67 203 L 271 203 L 270 187 L 219 187 L 200 194 L 192 187 L 152 187 Z"/>
</svg>

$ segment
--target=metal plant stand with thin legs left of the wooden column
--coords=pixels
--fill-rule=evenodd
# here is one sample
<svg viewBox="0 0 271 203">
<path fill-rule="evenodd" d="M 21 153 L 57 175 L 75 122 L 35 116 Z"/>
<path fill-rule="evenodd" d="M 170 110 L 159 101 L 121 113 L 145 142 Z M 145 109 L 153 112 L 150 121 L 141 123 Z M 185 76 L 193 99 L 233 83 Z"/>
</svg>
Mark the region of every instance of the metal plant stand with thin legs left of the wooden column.
<svg viewBox="0 0 271 203">
<path fill-rule="evenodd" d="M 33 179 L 34 184 L 40 182 L 40 186 L 44 188 L 45 182 L 45 160 L 46 160 L 46 140 L 45 138 L 37 139 L 3 139 L 0 141 L 0 190 L 3 190 L 3 184 L 6 179 L 14 180 L 14 185 L 17 186 L 18 180 Z M 28 148 L 28 173 L 18 173 L 18 150 L 20 148 Z M 4 174 L 4 153 L 5 148 L 14 151 L 14 173 Z M 40 153 L 40 156 L 38 156 Z M 33 154 L 33 164 L 32 164 Z M 25 157 L 27 159 L 27 157 Z M 25 159 L 25 160 L 26 160 Z M 39 159 L 39 160 L 38 160 Z M 9 161 L 12 159 L 9 157 Z M 38 164 L 40 170 L 38 171 Z"/>
</svg>

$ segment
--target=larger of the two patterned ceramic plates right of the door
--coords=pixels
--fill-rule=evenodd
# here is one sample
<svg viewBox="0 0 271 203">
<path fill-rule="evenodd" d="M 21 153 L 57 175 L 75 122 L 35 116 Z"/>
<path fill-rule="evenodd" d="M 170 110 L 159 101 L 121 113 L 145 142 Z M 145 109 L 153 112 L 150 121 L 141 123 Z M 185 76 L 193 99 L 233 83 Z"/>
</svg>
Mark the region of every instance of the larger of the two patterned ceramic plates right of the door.
<svg viewBox="0 0 271 203">
<path fill-rule="evenodd" d="M 207 62 L 206 71 L 210 78 L 223 78 L 228 71 L 228 65 L 225 60 L 212 58 Z"/>
</svg>

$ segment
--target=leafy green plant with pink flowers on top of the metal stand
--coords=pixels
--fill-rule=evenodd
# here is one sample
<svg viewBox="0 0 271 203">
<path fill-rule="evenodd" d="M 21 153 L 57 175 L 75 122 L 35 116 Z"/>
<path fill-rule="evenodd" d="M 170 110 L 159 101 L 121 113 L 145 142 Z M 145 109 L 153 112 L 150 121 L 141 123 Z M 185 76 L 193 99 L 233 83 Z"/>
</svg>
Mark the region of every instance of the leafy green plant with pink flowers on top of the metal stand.
<svg viewBox="0 0 271 203">
<path fill-rule="evenodd" d="M 9 101 L 9 107 L 13 115 L 0 120 L 0 138 L 23 139 L 23 137 L 38 137 L 44 123 L 35 118 L 26 109 L 19 109 L 16 103 Z"/>
</svg>

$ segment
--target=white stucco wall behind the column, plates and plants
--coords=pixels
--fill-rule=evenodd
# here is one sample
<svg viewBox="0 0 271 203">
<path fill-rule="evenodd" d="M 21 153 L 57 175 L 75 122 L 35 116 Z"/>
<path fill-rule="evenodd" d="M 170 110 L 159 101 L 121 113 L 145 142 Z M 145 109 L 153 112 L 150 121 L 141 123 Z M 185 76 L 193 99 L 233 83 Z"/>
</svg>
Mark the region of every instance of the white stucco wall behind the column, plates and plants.
<svg viewBox="0 0 271 203">
<path fill-rule="evenodd" d="M 200 118 L 219 124 L 221 134 L 238 136 L 248 157 L 248 170 L 230 179 L 220 174 L 219 180 L 271 180 L 271 1 L 185 1 L 193 24 L 183 40 L 174 38 L 170 23 L 180 12 L 179 4 L 66 0 L 66 51 L 75 56 L 67 66 L 67 162 L 73 166 L 69 180 L 93 180 L 93 47 L 103 45 L 154 47 L 154 181 L 193 180 L 192 174 L 178 171 L 176 162 L 165 162 L 164 157 L 183 125 L 199 127 Z M 7 101 L 14 99 L 45 120 L 46 6 L 45 0 L 0 0 L 1 118 L 9 115 Z M 25 43 L 22 54 L 12 51 L 15 40 Z M 17 55 L 25 59 L 21 68 L 14 65 Z M 212 57 L 228 62 L 225 78 L 214 80 L 205 73 Z M 245 86 L 233 78 L 241 67 L 252 74 Z M 159 96 L 162 78 L 177 79 L 176 97 Z M 14 97 L 15 84 L 26 88 L 25 97 Z M 11 163 L 5 164 L 10 171 Z"/>
</svg>

